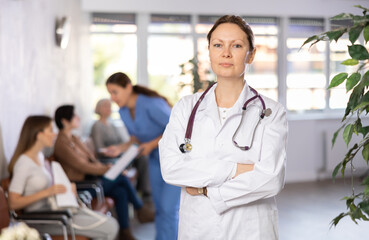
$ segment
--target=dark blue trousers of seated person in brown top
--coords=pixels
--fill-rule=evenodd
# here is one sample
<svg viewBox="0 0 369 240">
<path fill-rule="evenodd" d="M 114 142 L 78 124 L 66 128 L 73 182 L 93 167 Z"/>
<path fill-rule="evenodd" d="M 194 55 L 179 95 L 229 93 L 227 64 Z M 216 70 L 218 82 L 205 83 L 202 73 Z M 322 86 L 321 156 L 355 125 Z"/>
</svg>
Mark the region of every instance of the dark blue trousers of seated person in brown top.
<svg viewBox="0 0 369 240">
<path fill-rule="evenodd" d="M 128 203 L 132 203 L 135 209 L 140 209 L 143 206 L 136 190 L 129 179 L 123 175 L 119 175 L 114 181 L 102 178 L 102 185 L 105 196 L 114 199 L 120 228 L 128 228 Z"/>
</svg>

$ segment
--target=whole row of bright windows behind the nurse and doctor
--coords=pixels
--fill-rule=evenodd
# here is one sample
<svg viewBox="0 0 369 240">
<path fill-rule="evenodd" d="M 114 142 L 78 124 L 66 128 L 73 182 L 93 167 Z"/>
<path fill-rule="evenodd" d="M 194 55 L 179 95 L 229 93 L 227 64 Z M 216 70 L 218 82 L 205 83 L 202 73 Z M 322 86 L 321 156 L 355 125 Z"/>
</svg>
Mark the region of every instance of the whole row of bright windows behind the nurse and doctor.
<svg viewBox="0 0 369 240">
<path fill-rule="evenodd" d="M 197 62 L 196 73 L 200 81 L 215 81 L 206 36 L 219 17 L 93 13 L 91 44 L 95 101 L 107 96 L 104 82 L 117 71 L 127 73 L 134 84 L 148 85 L 172 104 L 193 92 L 193 76 L 189 69 L 194 64 L 191 61 Z M 319 42 L 311 48 L 310 44 L 301 48 L 308 37 L 327 31 L 328 21 L 323 18 L 243 18 L 254 32 L 257 49 L 254 62 L 246 70 L 245 78 L 250 86 L 274 100 L 280 98 L 292 112 L 329 112 L 346 106 L 348 94 L 344 84 L 331 90 L 327 87 L 336 74 L 355 70 L 355 67 L 340 64 L 350 58 L 346 53 L 349 41 Z M 335 29 L 350 24 L 332 21 L 330 27 Z M 281 39 L 286 41 L 283 45 L 279 42 Z M 142 63 L 138 65 L 140 59 Z M 138 74 L 141 79 L 137 79 Z M 279 76 L 285 77 L 279 79 Z M 203 88 L 206 86 L 204 84 Z M 284 86 L 286 88 L 281 89 Z"/>
</svg>

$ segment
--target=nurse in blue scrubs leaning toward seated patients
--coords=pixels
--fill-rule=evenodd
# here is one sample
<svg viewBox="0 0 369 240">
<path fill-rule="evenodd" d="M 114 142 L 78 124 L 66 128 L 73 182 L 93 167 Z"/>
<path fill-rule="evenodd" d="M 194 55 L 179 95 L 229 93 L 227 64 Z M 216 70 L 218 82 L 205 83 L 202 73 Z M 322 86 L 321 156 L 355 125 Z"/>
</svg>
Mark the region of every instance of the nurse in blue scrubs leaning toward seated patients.
<svg viewBox="0 0 369 240">
<path fill-rule="evenodd" d="M 111 99 L 131 140 L 108 149 L 114 155 L 125 151 L 129 144 L 139 143 L 141 155 L 149 157 L 149 175 L 155 204 L 156 240 L 177 239 L 180 188 L 164 182 L 160 171 L 158 142 L 169 121 L 171 107 L 167 100 L 146 87 L 133 86 L 129 77 L 121 72 L 106 81 Z"/>
</svg>

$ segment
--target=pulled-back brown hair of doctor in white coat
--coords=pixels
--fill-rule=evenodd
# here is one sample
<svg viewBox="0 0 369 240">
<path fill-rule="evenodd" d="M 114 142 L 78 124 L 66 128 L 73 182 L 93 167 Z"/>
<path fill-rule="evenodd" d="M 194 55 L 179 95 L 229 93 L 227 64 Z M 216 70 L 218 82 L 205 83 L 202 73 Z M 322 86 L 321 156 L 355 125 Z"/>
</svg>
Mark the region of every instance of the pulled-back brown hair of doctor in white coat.
<svg viewBox="0 0 369 240">
<path fill-rule="evenodd" d="M 215 29 L 220 24 L 223 24 L 223 23 L 233 23 L 233 24 L 236 24 L 237 26 L 239 26 L 241 28 L 241 30 L 246 33 L 247 40 L 249 41 L 250 51 L 253 51 L 254 50 L 254 48 L 255 48 L 255 45 L 254 45 L 254 33 L 252 32 L 252 29 L 251 29 L 250 25 L 244 19 L 242 19 L 240 16 L 235 16 L 235 15 L 224 15 L 224 16 L 220 17 L 214 23 L 213 27 L 210 29 L 210 31 L 209 31 L 209 33 L 207 35 L 207 39 L 208 39 L 208 44 L 209 45 L 210 45 L 211 35 L 215 31 Z"/>
</svg>

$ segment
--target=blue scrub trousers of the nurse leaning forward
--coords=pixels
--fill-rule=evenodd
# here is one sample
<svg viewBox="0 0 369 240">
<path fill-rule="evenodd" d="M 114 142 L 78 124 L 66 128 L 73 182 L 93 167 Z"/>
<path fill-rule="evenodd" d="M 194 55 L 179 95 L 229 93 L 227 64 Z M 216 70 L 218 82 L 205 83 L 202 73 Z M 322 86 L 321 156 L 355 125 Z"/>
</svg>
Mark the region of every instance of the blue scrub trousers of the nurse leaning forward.
<svg viewBox="0 0 369 240">
<path fill-rule="evenodd" d="M 149 175 L 155 205 L 156 240 L 175 240 L 181 188 L 164 182 L 159 159 L 149 159 Z"/>
</svg>

